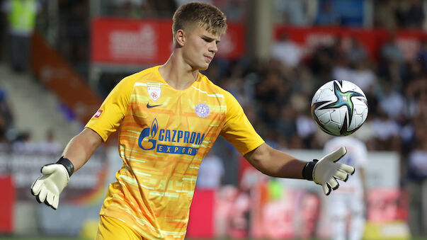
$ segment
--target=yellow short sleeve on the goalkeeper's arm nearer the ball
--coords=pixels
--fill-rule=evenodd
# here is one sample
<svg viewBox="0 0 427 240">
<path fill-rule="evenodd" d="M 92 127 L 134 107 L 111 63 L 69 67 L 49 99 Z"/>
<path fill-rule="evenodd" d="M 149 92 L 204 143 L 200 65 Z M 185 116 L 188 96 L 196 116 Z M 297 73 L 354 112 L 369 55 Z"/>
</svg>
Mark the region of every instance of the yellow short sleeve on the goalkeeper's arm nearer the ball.
<svg viewBox="0 0 427 240">
<path fill-rule="evenodd" d="M 224 91 L 224 98 L 227 103 L 227 115 L 220 134 L 241 155 L 247 154 L 263 144 L 264 140 L 254 130 L 236 98 L 227 91 Z"/>
</svg>

